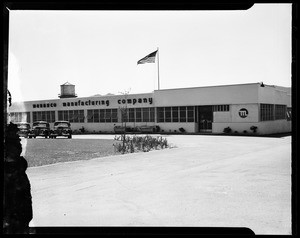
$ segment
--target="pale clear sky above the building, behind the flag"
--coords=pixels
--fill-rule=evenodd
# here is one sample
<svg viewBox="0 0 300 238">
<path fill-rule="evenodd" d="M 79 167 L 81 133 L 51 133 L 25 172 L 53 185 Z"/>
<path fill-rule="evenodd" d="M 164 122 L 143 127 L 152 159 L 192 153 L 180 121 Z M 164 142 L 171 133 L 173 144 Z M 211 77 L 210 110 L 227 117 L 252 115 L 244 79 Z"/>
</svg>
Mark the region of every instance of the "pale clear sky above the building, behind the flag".
<svg viewBox="0 0 300 238">
<path fill-rule="evenodd" d="M 240 11 L 10 10 L 13 101 L 264 82 L 291 87 L 291 4 Z M 137 61 L 158 49 L 155 63 Z"/>
</svg>

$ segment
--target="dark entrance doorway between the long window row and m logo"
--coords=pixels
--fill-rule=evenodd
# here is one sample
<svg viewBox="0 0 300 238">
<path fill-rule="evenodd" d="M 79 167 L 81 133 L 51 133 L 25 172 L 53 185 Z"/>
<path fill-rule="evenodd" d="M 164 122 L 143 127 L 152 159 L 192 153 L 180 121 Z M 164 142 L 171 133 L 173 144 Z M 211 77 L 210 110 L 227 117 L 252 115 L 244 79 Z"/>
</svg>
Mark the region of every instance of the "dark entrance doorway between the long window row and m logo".
<svg viewBox="0 0 300 238">
<path fill-rule="evenodd" d="M 198 107 L 198 123 L 199 132 L 211 132 L 213 122 L 213 108 L 212 106 Z"/>
</svg>

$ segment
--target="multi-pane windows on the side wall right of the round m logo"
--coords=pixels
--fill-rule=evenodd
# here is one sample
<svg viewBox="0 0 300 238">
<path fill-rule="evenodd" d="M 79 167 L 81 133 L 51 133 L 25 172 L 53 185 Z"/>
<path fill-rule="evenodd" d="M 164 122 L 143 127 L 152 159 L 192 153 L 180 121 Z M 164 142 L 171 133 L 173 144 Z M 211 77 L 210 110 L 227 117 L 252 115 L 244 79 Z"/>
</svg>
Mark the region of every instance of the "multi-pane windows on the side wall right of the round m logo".
<svg viewBox="0 0 300 238">
<path fill-rule="evenodd" d="M 287 119 L 286 105 L 260 104 L 260 121 Z"/>
</svg>

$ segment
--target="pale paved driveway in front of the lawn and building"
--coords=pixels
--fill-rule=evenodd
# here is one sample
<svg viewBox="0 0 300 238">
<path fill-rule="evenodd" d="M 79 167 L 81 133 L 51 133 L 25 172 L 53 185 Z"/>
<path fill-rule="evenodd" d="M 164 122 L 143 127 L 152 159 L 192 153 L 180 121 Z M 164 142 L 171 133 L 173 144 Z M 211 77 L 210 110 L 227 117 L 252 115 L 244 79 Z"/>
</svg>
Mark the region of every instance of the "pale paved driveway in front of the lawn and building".
<svg viewBox="0 0 300 238">
<path fill-rule="evenodd" d="M 74 138 L 113 138 L 78 135 Z M 29 168 L 31 226 L 291 234 L 291 137 L 173 135 L 176 148 Z"/>
</svg>

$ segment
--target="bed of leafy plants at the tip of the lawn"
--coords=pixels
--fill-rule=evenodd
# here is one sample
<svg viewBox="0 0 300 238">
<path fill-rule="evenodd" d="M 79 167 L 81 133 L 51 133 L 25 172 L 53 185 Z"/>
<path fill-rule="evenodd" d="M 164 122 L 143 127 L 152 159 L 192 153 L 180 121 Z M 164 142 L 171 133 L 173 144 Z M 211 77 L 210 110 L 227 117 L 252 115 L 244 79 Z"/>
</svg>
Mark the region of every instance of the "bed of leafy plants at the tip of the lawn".
<svg viewBox="0 0 300 238">
<path fill-rule="evenodd" d="M 148 152 L 150 150 L 165 149 L 169 147 L 167 139 L 152 136 L 115 136 L 118 143 L 113 144 L 115 152 L 134 153 L 138 151 Z"/>
</svg>

